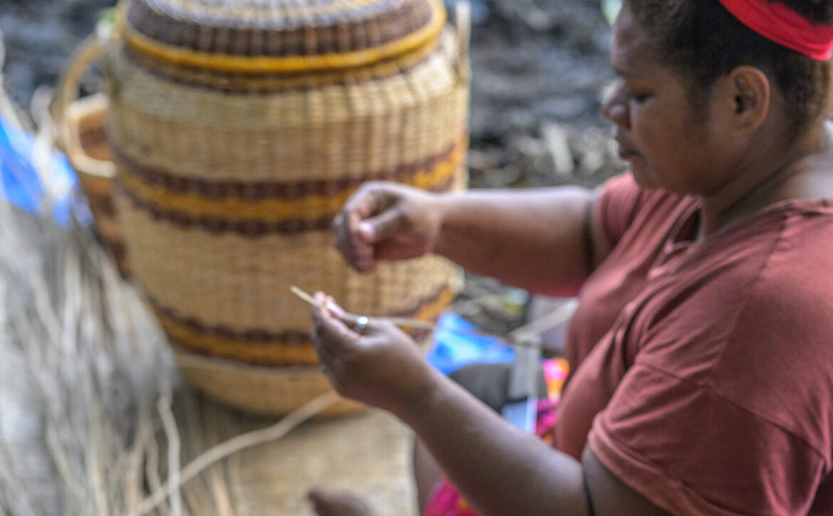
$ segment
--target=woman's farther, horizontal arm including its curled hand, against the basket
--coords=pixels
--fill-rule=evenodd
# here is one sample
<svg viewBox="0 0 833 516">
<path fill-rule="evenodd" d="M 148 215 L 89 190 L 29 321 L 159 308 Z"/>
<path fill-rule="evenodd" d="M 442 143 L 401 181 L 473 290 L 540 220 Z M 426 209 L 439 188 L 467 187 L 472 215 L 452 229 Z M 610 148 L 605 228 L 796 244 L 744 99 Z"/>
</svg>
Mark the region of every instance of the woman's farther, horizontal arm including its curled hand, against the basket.
<svg viewBox="0 0 833 516">
<path fill-rule="evenodd" d="M 358 270 L 436 252 L 532 292 L 575 295 L 610 252 L 593 200 L 574 186 L 430 194 L 367 183 L 336 218 L 337 246 Z"/>
</svg>

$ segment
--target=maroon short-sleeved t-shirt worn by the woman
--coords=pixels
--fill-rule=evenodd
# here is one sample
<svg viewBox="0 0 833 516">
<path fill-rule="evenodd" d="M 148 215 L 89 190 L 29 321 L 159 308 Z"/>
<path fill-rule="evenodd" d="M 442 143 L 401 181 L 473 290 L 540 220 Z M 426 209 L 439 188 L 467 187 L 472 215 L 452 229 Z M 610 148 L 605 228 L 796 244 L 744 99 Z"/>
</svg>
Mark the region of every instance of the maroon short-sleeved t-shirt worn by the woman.
<svg viewBox="0 0 833 516">
<path fill-rule="evenodd" d="M 674 514 L 833 514 L 833 204 L 785 201 L 696 241 L 696 199 L 631 176 L 582 287 L 556 447 L 585 444 Z"/>
</svg>

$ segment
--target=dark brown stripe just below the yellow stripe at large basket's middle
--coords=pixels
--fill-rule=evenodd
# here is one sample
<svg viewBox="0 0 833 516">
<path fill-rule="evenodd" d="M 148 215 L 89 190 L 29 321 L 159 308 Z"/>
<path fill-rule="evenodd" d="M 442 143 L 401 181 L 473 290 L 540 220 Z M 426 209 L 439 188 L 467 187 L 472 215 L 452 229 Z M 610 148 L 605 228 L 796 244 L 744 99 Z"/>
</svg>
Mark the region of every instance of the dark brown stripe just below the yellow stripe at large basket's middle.
<svg viewBox="0 0 833 516">
<path fill-rule="evenodd" d="M 436 188 L 432 188 L 431 191 L 448 191 L 455 182 L 456 178 L 449 176 L 447 181 L 437 185 Z M 337 209 L 334 209 L 322 216 L 312 218 L 295 216 L 279 221 L 263 221 L 255 218 L 231 221 L 221 216 L 191 216 L 181 210 L 163 210 L 135 196 L 132 191 L 125 189 L 118 177 L 113 181 L 113 185 L 117 191 L 132 202 L 133 206 L 146 211 L 156 221 L 166 221 L 184 230 L 198 228 L 214 235 L 231 232 L 247 238 L 257 238 L 269 234 L 298 235 L 311 231 L 328 231 L 332 226 L 332 218 L 336 216 L 337 212 Z"/>
</svg>

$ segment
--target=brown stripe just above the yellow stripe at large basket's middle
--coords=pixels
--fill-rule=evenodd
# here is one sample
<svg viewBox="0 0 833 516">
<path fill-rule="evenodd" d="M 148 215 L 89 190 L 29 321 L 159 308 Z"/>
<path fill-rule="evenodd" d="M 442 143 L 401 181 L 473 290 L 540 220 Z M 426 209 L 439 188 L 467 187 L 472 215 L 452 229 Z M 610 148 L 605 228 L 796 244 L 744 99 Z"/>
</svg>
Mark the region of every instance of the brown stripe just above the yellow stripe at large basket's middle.
<svg viewBox="0 0 833 516">
<path fill-rule="evenodd" d="M 463 138 L 433 156 L 421 161 L 402 163 L 390 170 L 370 172 L 360 177 L 302 181 L 207 181 L 142 165 L 115 145 L 112 146 L 112 152 L 116 156 L 120 175 L 135 177 L 147 186 L 161 188 L 177 196 L 200 196 L 209 201 L 220 201 L 230 197 L 243 201 L 295 201 L 309 196 L 332 196 L 343 191 L 352 191 L 366 181 L 397 181 L 410 184 L 414 176 L 420 172 L 434 170 L 452 157 L 461 161 L 460 154 L 461 151 L 465 151 L 466 146 L 467 139 Z"/>
</svg>

